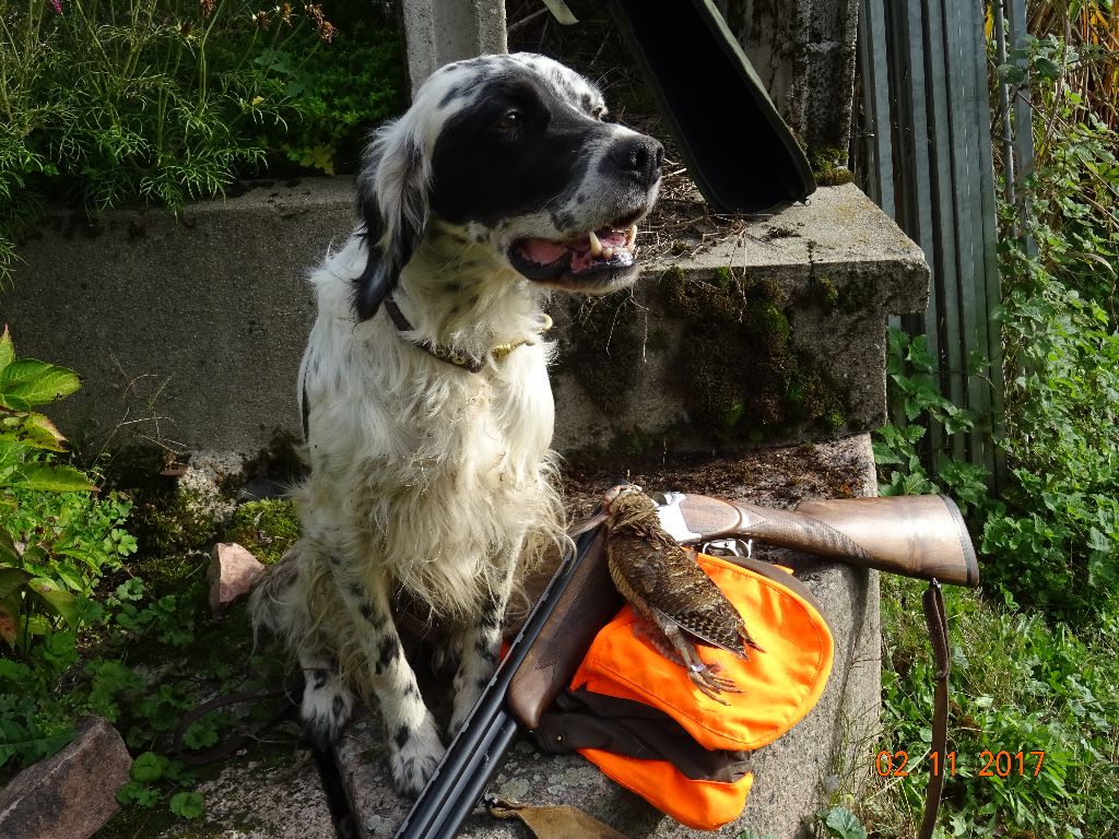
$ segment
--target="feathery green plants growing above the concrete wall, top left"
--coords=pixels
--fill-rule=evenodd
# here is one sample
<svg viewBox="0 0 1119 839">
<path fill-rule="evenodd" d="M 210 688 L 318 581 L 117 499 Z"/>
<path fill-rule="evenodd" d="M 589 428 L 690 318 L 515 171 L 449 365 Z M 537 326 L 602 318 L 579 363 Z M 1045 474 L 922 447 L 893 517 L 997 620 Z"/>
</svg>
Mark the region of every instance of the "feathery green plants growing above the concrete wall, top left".
<svg viewBox="0 0 1119 839">
<path fill-rule="evenodd" d="M 4 0 L 0 279 L 48 200 L 178 209 L 245 175 L 352 162 L 403 73 L 396 30 L 336 6 L 341 28 L 316 3 Z"/>
</svg>

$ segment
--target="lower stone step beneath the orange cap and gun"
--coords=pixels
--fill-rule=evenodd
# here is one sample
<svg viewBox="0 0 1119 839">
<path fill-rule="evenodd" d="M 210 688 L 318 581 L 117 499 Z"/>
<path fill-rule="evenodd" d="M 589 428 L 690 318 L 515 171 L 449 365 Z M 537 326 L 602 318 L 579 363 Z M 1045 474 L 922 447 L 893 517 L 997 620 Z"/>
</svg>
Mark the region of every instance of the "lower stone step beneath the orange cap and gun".
<svg viewBox="0 0 1119 839">
<path fill-rule="evenodd" d="M 763 505 L 788 507 L 801 498 L 875 493 L 869 439 L 775 449 L 736 460 L 714 460 L 677 469 L 651 469 L 632 475 L 647 489 L 679 489 Z M 589 509 L 613 479 L 605 472 L 576 477 L 582 490 L 568 492 L 579 511 Z M 574 804 L 626 836 L 642 839 L 737 837 L 743 830 L 792 839 L 840 782 L 858 789 L 873 760 L 872 736 L 880 697 L 877 574 L 819 563 L 791 552 L 759 550 L 763 558 L 797 568 L 820 601 L 836 642 L 835 666 L 817 706 L 792 730 L 756 753 L 755 780 L 743 816 L 714 833 L 692 830 L 662 816 L 643 800 L 609 781 L 577 755 L 536 752 L 516 745 L 491 791 L 530 804 Z M 445 722 L 445 720 L 444 720 Z M 410 802 L 392 791 L 387 758 L 375 713 L 350 726 L 340 750 L 361 823 L 370 837 L 393 836 Z M 527 830 L 478 811 L 461 833 L 468 839 L 520 839 Z"/>
</svg>

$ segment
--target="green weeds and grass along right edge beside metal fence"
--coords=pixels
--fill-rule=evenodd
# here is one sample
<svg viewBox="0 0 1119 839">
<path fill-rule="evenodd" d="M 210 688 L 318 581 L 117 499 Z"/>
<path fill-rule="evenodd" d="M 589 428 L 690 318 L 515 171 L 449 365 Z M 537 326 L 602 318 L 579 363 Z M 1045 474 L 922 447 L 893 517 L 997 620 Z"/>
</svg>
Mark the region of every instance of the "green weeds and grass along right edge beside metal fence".
<svg viewBox="0 0 1119 839">
<path fill-rule="evenodd" d="M 1037 157 L 1016 185 L 1019 204 L 999 211 L 1006 415 L 997 442 L 1009 481 L 998 497 L 984 470 L 949 454 L 975 418 L 940 394 L 924 339 L 890 337 L 893 422 L 875 440 L 881 490 L 952 494 L 982 559 L 981 592 L 946 590 L 956 760 L 938 836 L 1119 831 L 1119 136 L 1108 110 L 1115 87 L 1071 84 L 1104 77 L 1100 62 L 1098 50 L 1043 37 L 1000 68 L 1012 83 L 1031 79 Z M 930 421 L 944 430 L 942 451 L 929 445 Z M 872 835 L 909 838 L 930 772 L 932 662 L 920 586 L 884 579 L 883 595 L 878 748 L 887 770 L 904 753 L 909 774 L 886 772 L 857 809 Z M 1032 752 L 1044 753 L 1040 767 Z M 999 753 L 1010 758 L 1002 767 Z"/>
</svg>

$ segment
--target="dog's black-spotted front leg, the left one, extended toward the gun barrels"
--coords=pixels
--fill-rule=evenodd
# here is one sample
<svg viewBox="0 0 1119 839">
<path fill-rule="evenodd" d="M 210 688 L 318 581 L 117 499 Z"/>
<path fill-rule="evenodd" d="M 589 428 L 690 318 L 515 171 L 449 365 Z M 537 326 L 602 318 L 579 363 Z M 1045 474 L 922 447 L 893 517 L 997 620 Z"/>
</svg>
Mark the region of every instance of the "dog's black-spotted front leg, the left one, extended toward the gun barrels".
<svg viewBox="0 0 1119 839">
<path fill-rule="evenodd" d="M 345 581 L 347 609 L 358 628 L 361 652 L 368 662 L 369 685 L 380 705 L 393 785 L 415 798 L 443 757 L 435 719 L 424 705 L 415 672 L 404 658 L 401 637 L 389 609 L 388 586 Z"/>
</svg>

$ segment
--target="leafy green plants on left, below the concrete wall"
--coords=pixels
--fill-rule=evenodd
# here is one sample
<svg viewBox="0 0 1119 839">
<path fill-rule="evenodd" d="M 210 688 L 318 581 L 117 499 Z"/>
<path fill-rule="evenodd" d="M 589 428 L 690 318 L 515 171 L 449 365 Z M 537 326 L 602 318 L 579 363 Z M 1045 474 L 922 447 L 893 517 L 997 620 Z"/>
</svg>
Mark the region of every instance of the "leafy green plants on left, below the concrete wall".
<svg viewBox="0 0 1119 839">
<path fill-rule="evenodd" d="M 137 756 L 117 794 L 131 818 L 161 804 L 197 819 L 205 802 L 171 754 L 172 730 L 204 696 L 272 687 L 280 662 L 253 653 L 243 610 L 223 622 L 207 614 L 199 548 L 224 535 L 213 519 L 173 491 L 134 502 L 64 462 L 62 435 L 35 408 L 77 387 L 73 371 L 18 358 L 0 336 L 0 785 L 96 714 Z M 243 505 L 229 536 L 275 559 L 297 536 L 291 506 Z M 186 754 L 246 725 L 244 714 L 208 714 L 185 730 Z"/>
</svg>

